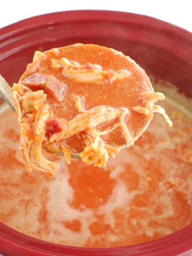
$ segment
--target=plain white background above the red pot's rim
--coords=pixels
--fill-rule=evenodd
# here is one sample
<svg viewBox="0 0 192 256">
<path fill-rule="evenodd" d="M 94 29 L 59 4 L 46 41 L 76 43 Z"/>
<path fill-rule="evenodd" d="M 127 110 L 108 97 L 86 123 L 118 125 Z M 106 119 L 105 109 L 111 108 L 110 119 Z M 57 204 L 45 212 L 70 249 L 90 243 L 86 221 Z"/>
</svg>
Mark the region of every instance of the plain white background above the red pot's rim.
<svg viewBox="0 0 192 256">
<path fill-rule="evenodd" d="M 192 32 L 191 5 L 191 0 L 2 0 L 0 28 L 39 14 L 92 9 L 145 14 Z"/>
</svg>

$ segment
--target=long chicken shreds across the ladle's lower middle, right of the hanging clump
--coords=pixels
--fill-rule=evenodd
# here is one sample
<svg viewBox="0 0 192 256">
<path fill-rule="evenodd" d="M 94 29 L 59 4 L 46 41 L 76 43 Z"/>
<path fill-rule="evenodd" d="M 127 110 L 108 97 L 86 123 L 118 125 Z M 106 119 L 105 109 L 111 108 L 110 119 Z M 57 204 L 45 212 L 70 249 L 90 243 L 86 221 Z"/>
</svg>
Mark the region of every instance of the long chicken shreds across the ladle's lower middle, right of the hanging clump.
<svg viewBox="0 0 192 256">
<path fill-rule="evenodd" d="M 65 122 L 66 129 L 54 133 L 49 141 L 51 143 L 58 143 L 85 131 L 85 149 L 80 154 L 80 157 L 85 163 L 93 163 L 95 166 L 106 166 L 108 158 L 110 156 L 114 157 L 114 154 L 119 151 L 119 148 L 105 144 L 100 137 L 101 135 L 107 134 L 119 126 L 125 138 L 126 146 L 129 147 L 134 143 L 133 137 L 125 124 L 125 116 L 129 114 L 129 110 L 124 108 L 115 109 L 107 106 L 98 106 L 90 110 L 84 110 L 82 99 L 82 97 L 75 97 L 76 107 L 81 114 L 78 114 L 71 121 Z M 116 124 L 113 129 L 99 132 L 95 128 L 100 124 L 110 122 L 116 117 L 119 118 L 119 123 Z M 67 159 L 68 162 L 70 162 L 69 153 L 73 154 L 72 151 L 69 149 L 66 150 L 66 147 L 63 145 L 61 150 L 63 155 L 68 156 Z"/>
</svg>

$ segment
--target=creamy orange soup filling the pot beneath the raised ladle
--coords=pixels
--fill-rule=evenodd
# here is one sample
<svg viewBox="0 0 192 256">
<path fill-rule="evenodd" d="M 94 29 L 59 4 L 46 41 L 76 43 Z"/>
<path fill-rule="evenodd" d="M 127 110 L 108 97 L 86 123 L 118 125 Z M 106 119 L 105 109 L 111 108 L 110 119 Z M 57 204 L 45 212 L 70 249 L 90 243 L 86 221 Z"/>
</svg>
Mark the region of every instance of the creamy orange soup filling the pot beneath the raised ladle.
<svg viewBox="0 0 192 256">
<path fill-rule="evenodd" d="M 0 123 L 0 221 L 43 241 L 81 247 L 117 247 L 151 241 L 192 223 L 192 115 L 177 102 L 135 145 L 106 168 L 60 163 L 54 177 L 29 174 L 19 151 L 17 117 L 6 109 Z"/>
</svg>

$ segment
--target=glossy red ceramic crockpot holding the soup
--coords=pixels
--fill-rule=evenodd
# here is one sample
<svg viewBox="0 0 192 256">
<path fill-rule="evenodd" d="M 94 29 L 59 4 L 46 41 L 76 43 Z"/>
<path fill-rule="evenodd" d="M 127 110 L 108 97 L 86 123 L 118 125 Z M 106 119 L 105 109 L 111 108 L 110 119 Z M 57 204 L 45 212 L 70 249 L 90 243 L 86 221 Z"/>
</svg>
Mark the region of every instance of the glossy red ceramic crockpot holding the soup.
<svg viewBox="0 0 192 256">
<path fill-rule="evenodd" d="M 18 81 L 36 50 L 74 43 L 94 43 L 122 51 L 137 61 L 147 74 L 175 84 L 192 98 L 192 34 L 169 23 L 132 13 L 59 12 L 2 28 L 0 73 L 12 84 Z M 0 253 L 7 256 L 187 256 L 192 255 L 192 225 L 144 244 L 85 249 L 39 241 L 0 223 Z"/>
</svg>

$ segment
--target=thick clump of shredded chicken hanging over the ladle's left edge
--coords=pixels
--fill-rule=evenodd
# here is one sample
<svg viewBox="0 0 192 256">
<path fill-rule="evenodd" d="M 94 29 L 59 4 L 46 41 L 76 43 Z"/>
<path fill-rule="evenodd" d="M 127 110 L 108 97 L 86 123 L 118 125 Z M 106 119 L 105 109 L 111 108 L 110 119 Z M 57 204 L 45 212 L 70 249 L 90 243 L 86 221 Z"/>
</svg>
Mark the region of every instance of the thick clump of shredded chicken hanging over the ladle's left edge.
<svg viewBox="0 0 192 256">
<path fill-rule="evenodd" d="M 13 85 L 13 90 L 17 85 Z M 43 156 L 45 123 L 49 117 L 49 105 L 45 103 L 46 94 L 42 90 L 19 95 L 13 93 L 15 107 L 21 124 L 21 156 L 28 172 L 39 170 L 53 175 L 59 168 L 58 163 L 51 162 Z M 20 107 L 19 107 L 20 106 Z"/>
</svg>

